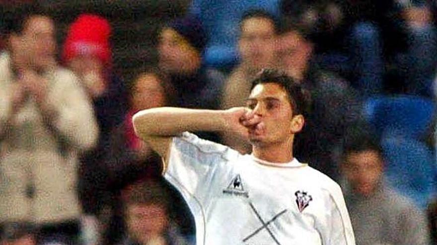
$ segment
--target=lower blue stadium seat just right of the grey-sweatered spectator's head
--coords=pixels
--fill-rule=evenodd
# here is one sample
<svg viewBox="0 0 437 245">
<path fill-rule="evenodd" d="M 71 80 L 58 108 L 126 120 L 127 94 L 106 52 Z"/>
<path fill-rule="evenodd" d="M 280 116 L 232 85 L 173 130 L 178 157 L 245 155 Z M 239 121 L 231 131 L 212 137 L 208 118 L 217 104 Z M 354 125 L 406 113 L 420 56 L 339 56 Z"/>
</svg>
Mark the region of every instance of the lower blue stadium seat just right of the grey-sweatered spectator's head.
<svg viewBox="0 0 437 245">
<path fill-rule="evenodd" d="M 432 151 L 422 142 L 402 137 L 384 138 L 385 176 L 401 194 L 426 208 L 436 192 L 436 164 Z"/>
</svg>

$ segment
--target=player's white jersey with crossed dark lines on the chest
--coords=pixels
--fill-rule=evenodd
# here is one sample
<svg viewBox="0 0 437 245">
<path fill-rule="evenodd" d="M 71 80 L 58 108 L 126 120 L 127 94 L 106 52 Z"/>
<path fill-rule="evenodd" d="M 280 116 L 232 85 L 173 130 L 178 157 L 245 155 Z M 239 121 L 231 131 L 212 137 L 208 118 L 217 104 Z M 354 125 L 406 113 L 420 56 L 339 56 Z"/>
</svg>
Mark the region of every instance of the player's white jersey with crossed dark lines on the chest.
<svg viewBox="0 0 437 245">
<path fill-rule="evenodd" d="M 185 132 L 164 176 L 193 212 L 198 245 L 355 245 L 340 187 L 296 159 L 270 163 Z"/>
</svg>

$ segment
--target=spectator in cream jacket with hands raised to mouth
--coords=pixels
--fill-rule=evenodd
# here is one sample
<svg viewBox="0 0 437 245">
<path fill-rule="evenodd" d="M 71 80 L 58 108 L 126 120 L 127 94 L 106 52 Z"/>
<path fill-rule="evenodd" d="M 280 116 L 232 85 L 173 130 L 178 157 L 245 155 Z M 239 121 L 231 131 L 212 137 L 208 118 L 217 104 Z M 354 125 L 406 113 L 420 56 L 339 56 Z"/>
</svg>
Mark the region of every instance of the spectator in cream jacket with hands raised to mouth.
<svg viewBox="0 0 437 245">
<path fill-rule="evenodd" d="M 0 55 L 0 221 L 34 222 L 75 241 L 78 154 L 98 127 L 78 79 L 56 63 L 51 17 L 22 4 Z"/>
</svg>

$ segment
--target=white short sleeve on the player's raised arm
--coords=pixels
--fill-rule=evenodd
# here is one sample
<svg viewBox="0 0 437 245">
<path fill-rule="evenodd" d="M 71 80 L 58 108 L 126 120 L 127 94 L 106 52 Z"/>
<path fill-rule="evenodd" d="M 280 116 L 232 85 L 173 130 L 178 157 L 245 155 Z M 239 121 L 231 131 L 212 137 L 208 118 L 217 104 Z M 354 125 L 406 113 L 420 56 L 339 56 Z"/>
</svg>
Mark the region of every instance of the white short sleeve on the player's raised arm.
<svg viewBox="0 0 437 245">
<path fill-rule="evenodd" d="M 229 147 L 184 132 L 172 140 L 164 177 L 186 198 L 204 203 L 214 188 L 214 178 L 226 171 L 236 154 Z"/>
</svg>

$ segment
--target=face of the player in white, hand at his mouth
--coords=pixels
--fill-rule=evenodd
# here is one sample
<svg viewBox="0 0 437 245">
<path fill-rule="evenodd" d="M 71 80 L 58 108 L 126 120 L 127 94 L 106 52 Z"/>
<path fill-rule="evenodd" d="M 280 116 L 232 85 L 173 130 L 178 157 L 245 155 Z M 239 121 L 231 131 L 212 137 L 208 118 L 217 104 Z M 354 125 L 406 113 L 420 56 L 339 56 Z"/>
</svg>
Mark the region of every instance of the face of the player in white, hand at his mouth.
<svg viewBox="0 0 437 245">
<path fill-rule="evenodd" d="M 259 124 L 249 129 L 249 140 L 253 145 L 290 141 L 292 135 L 303 126 L 302 116 L 293 116 L 288 94 L 278 84 L 264 83 L 255 86 L 247 99 L 247 106 L 261 118 Z M 301 122 L 301 125 L 296 124 L 296 121 Z"/>
</svg>

